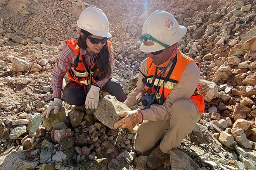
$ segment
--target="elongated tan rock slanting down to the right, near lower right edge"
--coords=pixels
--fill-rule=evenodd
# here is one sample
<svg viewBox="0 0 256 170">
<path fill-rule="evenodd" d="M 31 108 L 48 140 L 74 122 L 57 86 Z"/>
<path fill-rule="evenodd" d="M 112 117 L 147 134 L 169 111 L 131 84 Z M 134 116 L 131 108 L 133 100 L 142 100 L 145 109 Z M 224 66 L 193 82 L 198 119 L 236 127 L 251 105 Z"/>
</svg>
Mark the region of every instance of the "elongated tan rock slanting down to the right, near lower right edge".
<svg viewBox="0 0 256 170">
<path fill-rule="evenodd" d="M 253 148 L 252 145 L 249 143 L 248 139 L 246 138 L 246 134 L 242 129 L 233 127 L 231 133 L 233 134 L 235 140 L 240 146 L 249 149 Z"/>
</svg>

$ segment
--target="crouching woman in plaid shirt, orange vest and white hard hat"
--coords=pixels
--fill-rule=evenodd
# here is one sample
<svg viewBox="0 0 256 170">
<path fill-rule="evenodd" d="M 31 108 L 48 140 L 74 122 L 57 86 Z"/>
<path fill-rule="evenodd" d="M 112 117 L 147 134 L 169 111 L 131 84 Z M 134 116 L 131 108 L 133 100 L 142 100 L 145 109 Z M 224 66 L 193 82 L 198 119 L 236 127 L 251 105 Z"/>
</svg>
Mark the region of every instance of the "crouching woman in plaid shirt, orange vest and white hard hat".
<svg viewBox="0 0 256 170">
<path fill-rule="evenodd" d="M 66 73 L 70 80 L 64 88 L 63 100 L 67 104 L 85 104 L 86 109 L 96 109 L 100 90 L 121 102 L 127 98 L 121 83 L 111 78 L 111 42 L 107 41 L 111 34 L 106 15 L 98 8 L 88 7 L 80 14 L 76 25 L 81 28 L 80 37 L 66 41 L 54 68 L 54 103 L 43 113 L 47 118 L 51 110 L 56 114 L 61 107 L 61 87 Z"/>
</svg>

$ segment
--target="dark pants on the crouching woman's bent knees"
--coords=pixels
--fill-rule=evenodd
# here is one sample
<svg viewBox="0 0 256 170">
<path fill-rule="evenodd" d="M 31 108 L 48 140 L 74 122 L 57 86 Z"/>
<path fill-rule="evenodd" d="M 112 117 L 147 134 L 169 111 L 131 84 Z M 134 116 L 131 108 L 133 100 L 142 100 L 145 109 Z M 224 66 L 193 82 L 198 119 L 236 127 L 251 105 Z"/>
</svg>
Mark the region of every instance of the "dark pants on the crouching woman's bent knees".
<svg viewBox="0 0 256 170">
<path fill-rule="evenodd" d="M 63 91 L 63 100 L 66 101 L 67 104 L 81 106 L 85 104 L 85 89 L 86 88 L 79 83 L 69 80 Z M 127 98 L 122 84 L 114 78 L 109 79 L 101 91 L 108 92 L 110 95 L 115 96 L 120 102 L 124 102 Z"/>
</svg>

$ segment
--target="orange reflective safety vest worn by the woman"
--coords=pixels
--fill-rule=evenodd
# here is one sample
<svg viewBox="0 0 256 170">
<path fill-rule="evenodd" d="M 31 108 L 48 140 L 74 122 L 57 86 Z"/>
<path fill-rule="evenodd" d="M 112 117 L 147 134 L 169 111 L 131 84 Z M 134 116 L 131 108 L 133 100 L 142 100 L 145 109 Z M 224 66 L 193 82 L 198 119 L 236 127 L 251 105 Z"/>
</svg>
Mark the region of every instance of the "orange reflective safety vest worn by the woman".
<svg viewBox="0 0 256 170">
<path fill-rule="evenodd" d="M 80 55 L 80 47 L 77 45 L 77 39 L 71 39 L 65 41 L 65 44 L 68 44 L 69 47 L 76 53 L 76 59 L 78 61 L 78 65 L 72 65 L 69 71 L 67 72 L 67 76 L 70 80 L 80 83 L 81 85 L 89 86 L 92 82 L 92 85 L 97 83 L 96 80 L 93 78 L 93 72 L 99 71 L 99 69 L 95 68 L 97 63 L 97 56 L 93 57 L 92 66 L 89 68 L 85 63 L 85 58 Z M 109 49 L 111 48 L 112 43 L 107 41 Z M 90 77 L 91 76 L 91 77 Z M 91 78 L 91 80 L 90 80 Z"/>
</svg>

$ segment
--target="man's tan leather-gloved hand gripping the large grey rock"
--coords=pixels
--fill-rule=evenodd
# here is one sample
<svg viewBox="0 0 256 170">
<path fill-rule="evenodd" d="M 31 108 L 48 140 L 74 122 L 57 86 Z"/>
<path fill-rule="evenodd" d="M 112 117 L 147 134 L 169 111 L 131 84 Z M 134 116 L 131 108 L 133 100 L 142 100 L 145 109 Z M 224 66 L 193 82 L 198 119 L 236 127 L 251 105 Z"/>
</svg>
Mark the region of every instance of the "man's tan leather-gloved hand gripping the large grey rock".
<svg viewBox="0 0 256 170">
<path fill-rule="evenodd" d="M 114 124 L 114 128 L 118 128 L 121 125 L 121 128 L 133 129 L 138 123 L 142 123 L 143 118 L 140 110 L 132 110 L 128 112 L 119 112 L 116 113 L 120 117 L 125 117 Z"/>
</svg>

